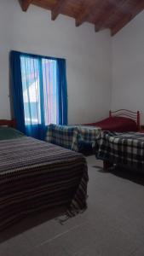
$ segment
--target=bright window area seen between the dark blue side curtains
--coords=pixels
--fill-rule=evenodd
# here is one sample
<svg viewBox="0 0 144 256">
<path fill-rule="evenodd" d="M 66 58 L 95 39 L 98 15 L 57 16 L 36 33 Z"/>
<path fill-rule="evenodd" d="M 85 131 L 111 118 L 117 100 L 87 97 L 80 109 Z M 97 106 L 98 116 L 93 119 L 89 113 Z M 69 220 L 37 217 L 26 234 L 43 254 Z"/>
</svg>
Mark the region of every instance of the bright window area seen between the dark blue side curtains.
<svg viewBox="0 0 144 256">
<path fill-rule="evenodd" d="M 55 60 L 20 56 L 26 125 L 58 123 L 56 65 Z"/>
</svg>

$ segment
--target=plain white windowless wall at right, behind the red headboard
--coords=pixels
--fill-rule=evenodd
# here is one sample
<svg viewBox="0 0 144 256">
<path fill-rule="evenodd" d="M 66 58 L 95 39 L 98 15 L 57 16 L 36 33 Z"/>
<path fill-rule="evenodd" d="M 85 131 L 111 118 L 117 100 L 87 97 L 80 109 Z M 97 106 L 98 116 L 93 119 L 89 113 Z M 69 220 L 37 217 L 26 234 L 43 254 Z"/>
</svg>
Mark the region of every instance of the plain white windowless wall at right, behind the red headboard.
<svg viewBox="0 0 144 256">
<path fill-rule="evenodd" d="M 144 122 L 144 11 L 112 38 L 111 107 L 140 110 Z"/>
</svg>

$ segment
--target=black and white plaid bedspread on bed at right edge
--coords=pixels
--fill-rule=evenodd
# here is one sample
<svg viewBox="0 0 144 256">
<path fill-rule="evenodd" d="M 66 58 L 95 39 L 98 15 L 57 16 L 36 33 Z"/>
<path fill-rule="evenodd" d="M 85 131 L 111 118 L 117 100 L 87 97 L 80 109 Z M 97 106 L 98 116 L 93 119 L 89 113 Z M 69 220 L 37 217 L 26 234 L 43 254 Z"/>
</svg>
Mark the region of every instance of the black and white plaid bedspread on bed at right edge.
<svg viewBox="0 0 144 256">
<path fill-rule="evenodd" d="M 144 171 L 144 134 L 103 131 L 96 157 Z"/>
</svg>

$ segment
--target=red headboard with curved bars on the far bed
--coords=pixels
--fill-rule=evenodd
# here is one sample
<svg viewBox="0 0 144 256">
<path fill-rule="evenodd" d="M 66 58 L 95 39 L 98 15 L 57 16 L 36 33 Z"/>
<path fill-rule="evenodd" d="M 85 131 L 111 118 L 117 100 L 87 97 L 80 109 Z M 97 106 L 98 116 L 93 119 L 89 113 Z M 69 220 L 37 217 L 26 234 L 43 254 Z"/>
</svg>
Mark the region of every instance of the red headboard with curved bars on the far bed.
<svg viewBox="0 0 144 256">
<path fill-rule="evenodd" d="M 121 116 L 132 119 L 137 124 L 138 130 L 140 130 L 140 111 L 131 111 L 128 109 L 118 109 L 116 111 L 110 110 L 109 117 L 112 116 Z"/>
</svg>

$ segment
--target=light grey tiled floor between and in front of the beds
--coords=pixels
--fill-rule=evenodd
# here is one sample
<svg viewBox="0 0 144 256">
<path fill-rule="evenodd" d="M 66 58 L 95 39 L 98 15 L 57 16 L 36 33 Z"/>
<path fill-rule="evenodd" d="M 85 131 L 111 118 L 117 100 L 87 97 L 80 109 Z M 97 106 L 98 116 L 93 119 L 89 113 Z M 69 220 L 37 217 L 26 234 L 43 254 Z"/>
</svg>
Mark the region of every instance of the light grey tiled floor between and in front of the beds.
<svg viewBox="0 0 144 256">
<path fill-rule="evenodd" d="M 144 255 L 144 186 L 87 160 L 87 211 L 63 225 L 42 214 L 14 225 L 0 234 L 0 256 Z"/>
</svg>

